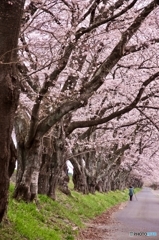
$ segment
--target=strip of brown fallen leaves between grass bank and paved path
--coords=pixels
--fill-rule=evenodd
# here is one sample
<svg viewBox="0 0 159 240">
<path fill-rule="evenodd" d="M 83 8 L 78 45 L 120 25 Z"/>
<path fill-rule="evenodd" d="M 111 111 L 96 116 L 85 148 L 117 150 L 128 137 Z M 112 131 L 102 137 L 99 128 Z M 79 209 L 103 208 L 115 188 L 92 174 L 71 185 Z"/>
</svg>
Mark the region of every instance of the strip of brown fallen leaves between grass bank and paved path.
<svg viewBox="0 0 159 240">
<path fill-rule="evenodd" d="M 114 228 L 112 229 L 112 226 L 117 226 L 117 222 L 113 218 L 112 214 L 125 206 L 126 203 L 114 206 L 87 223 L 86 228 L 79 233 L 76 240 L 111 239 L 111 233 L 115 231 Z"/>
</svg>

